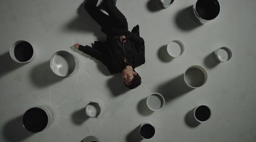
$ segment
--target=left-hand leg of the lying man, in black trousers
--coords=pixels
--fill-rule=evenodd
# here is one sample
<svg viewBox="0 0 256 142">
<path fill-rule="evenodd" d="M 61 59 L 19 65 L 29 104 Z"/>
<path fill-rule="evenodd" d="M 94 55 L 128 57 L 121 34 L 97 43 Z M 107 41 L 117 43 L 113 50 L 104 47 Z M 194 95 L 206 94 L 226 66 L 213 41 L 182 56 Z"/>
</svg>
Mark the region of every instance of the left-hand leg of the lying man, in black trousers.
<svg viewBox="0 0 256 142">
<path fill-rule="evenodd" d="M 87 0 L 84 4 L 84 9 L 101 27 L 109 26 L 110 18 L 97 8 L 98 0 Z"/>
</svg>

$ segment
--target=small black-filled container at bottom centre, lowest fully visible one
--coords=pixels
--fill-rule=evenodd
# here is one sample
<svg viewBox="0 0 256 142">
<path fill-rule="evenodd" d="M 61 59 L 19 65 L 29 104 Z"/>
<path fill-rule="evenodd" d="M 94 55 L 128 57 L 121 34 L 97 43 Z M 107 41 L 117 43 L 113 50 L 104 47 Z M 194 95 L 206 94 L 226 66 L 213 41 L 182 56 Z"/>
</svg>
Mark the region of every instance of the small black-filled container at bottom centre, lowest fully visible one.
<svg viewBox="0 0 256 142">
<path fill-rule="evenodd" d="M 143 139 L 150 139 L 155 134 L 154 124 L 150 121 L 142 122 L 140 125 L 140 135 Z"/>
</svg>

